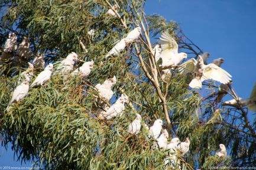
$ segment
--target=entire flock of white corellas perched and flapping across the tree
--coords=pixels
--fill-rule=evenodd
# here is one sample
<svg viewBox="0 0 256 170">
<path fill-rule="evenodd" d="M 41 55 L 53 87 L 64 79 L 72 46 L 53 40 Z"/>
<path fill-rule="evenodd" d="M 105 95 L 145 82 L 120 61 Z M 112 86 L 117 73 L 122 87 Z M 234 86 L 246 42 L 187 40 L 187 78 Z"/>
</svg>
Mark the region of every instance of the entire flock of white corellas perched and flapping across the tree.
<svg viewBox="0 0 256 170">
<path fill-rule="evenodd" d="M 113 6 L 113 9 L 117 10 L 118 6 Z M 109 15 L 115 16 L 116 14 L 112 9 L 109 9 L 107 12 Z M 91 29 L 88 34 L 90 36 L 95 34 L 95 30 Z M 110 56 L 118 56 L 122 51 L 125 50 L 128 44 L 131 44 L 134 41 L 137 41 L 141 35 L 141 28 L 134 28 L 131 32 L 128 33 L 126 38 L 121 39 L 109 52 L 106 54 L 105 58 L 109 58 Z M 21 44 L 17 48 L 17 36 L 15 33 L 9 34 L 9 37 L 4 46 L 4 52 L 0 56 L 0 61 L 5 62 L 8 61 L 8 58 L 16 52 L 16 55 L 28 59 L 30 57 L 30 43 L 28 42 L 28 38 L 24 37 Z M 191 58 L 182 64 L 184 59 L 187 58 L 187 54 L 184 52 L 179 53 L 179 46 L 175 39 L 168 34 L 168 32 L 163 32 L 160 36 L 160 44 L 156 45 L 153 49 L 153 55 L 155 56 L 155 61 L 157 62 L 161 58 L 161 65 L 159 65 L 159 70 L 161 71 L 161 76 L 166 78 L 168 74 L 175 68 L 178 68 L 178 71 L 182 75 L 187 75 L 188 73 L 193 74 L 193 79 L 190 82 L 189 86 L 191 88 L 202 88 L 202 82 L 208 79 L 213 79 L 215 81 L 221 82 L 221 87 L 218 94 L 218 101 L 221 101 L 223 96 L 228 93 L 228 84 L 231 84 L 231 75 L 221 68 L 221 64 L 223 63 L 222 58 L 218 58 L 213 60 L 211 64 L 207 64 L 207 60 L 209 58 L 209 53 L 205 52 L 202 56 L 198 56 L 197 59 Z M 67 55 L 66 59 L 60 62 L 57 65 L 56 71 L 54 74 L 62 74 L 62 75 L 71 75 L 71 76 L 82 76 L 83 79 L 88 78 L 90 72 L 92 71 L 94 61 L 84 62 L 82 66 L 76 68 L 73 71 L 74 63 L 77 61 L 77 54 L 72 52 Z M 21 101 L 25 95 L 27 95 L 29 88 L 35 88 L 36 86 L 42 86 L 46 84 L 46 82 L 51 78 L 53 73 L 53 64 L 48 64 L 44 68 L 45 62 L 43 59 L 43 55 L 38 54 L 32 62 L 29 63 L 29 67 L 26 71 L 22 72 L 22 76 L 25 77 L 25 80 L 15 88 L 12 98 L 9 101 L 9 105 L 7 107 L 7 111 L 12 104 Z M 34 68 L 43 69 L 40 74 L 37 75 L 34 82 L 29 85 L 30 80 L 33 78 Z M 112 88 L 116 84 L 116 77 L 106 79 L 103 84 L 97 84 L 95 86 L 96 91 L 98 91 L 98 95 L 100 98 L 106 99 L 106 101 L 110 101 L 113 96 Z M 223 102 L 223 105 L 231 105 L 237 106 L 241 104 L 242 106 L 248 106 L 252 111 L 256 111 L 256 86 L 252 90 L 251 97 L 249 99 L 239 98 L 239 101 L 233 99 L 231 101 Z M 125 110 L 125 104 L 128 102 L 128 96 L 122 94 L 115 104 L 110 107 L 104 104 L 102 100 L 99 98 L 96 99 L 103 107 L 103 111 L 99 113 L 98 118 L 101 119 L 113 119 L 116 116 L 122 116 L 122 113 Z M 137 117 L 134 121 L 131 122 L 128 126 L 129 134 L 138 135 L 141 130 L 142 117 L 140 114 L 136 114 Z M 184 155 L 189 151 L 190 140 L 186 138 L 184 142 L 180 142 L 179 138 L 171 139 L 170 143 L 168 143 L 168 132 L 166 129 L 162 128 L 163 121 L 161 119 L 157 119 L 154 121 L 154 124 L 148 128 L 147 124 L 144 124 L 145 129 L 148 131 L 148 138 L 153 138 L 155 140 L 155 144 L 153 149 L 163 149 L 168 150 L 169 154 L 166 159 L 164 159 L 165 164 L 168 167 L 179 164 L 179 159 L 177 158 L 179 155 Z M 225 145 L 220 144 L 219 150 L 216 151 L 216 156 L 226 156 L 226 148 Z"/>
</svg>

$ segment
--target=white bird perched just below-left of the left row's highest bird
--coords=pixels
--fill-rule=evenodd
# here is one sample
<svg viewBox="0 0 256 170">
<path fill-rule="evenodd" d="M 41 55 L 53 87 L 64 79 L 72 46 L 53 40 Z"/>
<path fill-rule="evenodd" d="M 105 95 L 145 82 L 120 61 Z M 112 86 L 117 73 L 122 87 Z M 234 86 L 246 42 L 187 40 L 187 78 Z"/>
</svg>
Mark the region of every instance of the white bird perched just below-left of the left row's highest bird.
<svg viewBox="0 0 256 170">
<path fill-rule="evenodd" d="M 44 71 L 40 72 L 40 74 L 35 78 L 35 81 L 33 84 L 31 84 L 31 87 L 35 87 L 38 85 L 43 85 L 45 82 L 48 81 L 48 79 L 51 78 L 51 73 L 53 72 L 53 64 L 49 64 L 44 68 Z"/>
</svg>

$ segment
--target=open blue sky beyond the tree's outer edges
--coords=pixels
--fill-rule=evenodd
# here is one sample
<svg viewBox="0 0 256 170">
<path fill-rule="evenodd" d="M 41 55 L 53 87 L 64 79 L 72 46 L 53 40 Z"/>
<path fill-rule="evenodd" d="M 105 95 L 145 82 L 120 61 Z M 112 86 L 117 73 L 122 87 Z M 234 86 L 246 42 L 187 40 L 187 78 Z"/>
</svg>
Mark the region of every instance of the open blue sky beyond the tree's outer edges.
<svg viewBox="0 0 256 170">
<path fill-rule="evenodd" d="M 256 82 L 255 0 L 148 0 L 145 12 L 176 21 L 187 37 L 210 52 L 209 61 L 224 58 L 222 68 L 233 76 L 232 86 L 242 98 L 249 97 Z M 21 166 L 11 147 L 0 148 L 0 166 Z"/>
</svg>

